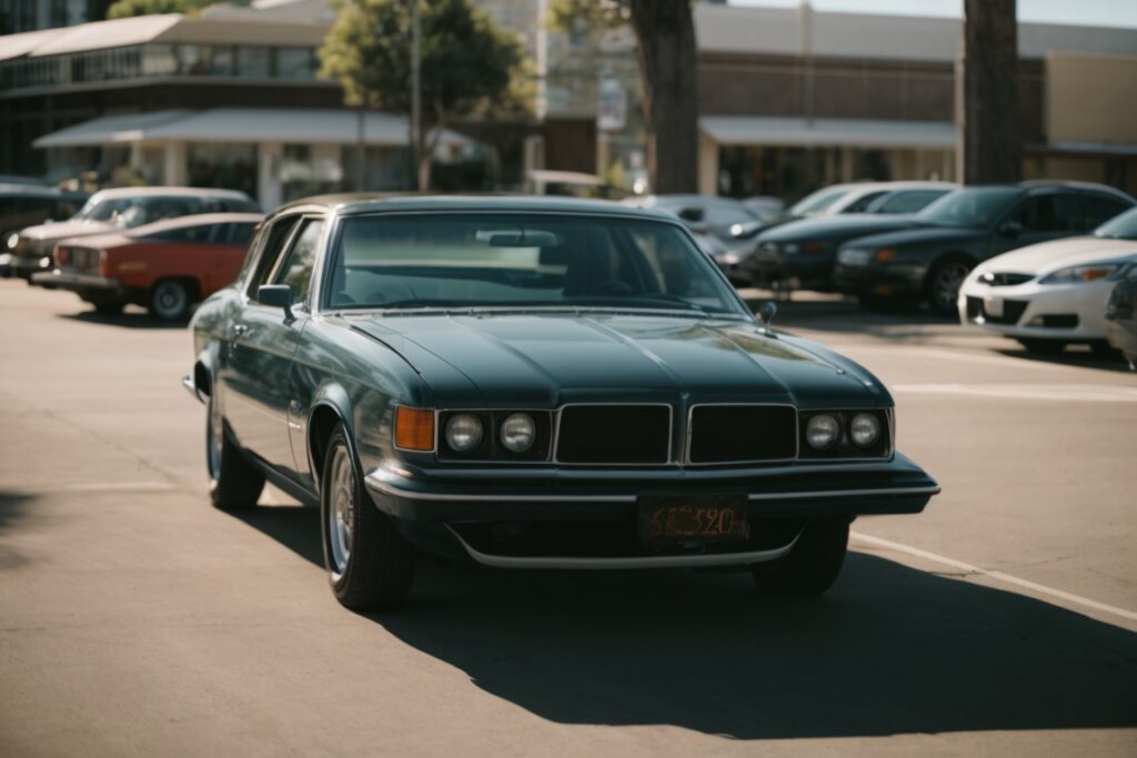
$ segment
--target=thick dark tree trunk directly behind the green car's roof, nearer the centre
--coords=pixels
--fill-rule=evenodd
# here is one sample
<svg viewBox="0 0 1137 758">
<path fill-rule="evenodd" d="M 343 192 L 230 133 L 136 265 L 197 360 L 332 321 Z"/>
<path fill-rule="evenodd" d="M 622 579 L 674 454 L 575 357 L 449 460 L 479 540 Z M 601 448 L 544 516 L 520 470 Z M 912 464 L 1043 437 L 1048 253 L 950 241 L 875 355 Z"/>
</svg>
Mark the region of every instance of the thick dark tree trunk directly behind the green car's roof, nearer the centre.
<svg viewBox="0 0 1137 758">
<path fill-rule="evenodd" d="M 631 0 L 631 9 L 652 191 L 698 192 L 698 59 L 690 1 Z"/>
</svg>

